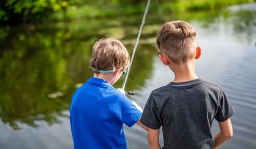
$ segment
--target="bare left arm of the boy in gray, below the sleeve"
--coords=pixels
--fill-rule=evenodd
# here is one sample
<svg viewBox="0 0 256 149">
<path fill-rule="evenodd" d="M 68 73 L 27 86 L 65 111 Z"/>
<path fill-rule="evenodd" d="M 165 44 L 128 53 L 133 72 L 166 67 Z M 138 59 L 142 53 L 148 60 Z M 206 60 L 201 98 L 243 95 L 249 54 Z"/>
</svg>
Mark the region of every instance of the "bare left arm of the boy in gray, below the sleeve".
<svg viewBox="0 0 256 149">
<path fill-rule="evenodd" d="M 159 144 L 159 129 L 155 130 L 148 128 L 147 141 L 151 149 L 160 149 L 161 147 Z"/>
</svg>

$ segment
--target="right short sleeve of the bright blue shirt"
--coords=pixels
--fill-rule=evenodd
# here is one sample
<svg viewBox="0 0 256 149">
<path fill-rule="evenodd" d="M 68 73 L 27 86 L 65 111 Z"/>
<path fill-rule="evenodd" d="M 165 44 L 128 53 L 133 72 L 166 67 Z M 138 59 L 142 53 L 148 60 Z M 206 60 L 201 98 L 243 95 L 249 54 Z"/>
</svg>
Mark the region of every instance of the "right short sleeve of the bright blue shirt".
<svg viewBox="0 0 256 149">
<path fill-rule="evenodd" d="M 116 93 L 110 98 L 105 98 L 105 102 L 113 116 L 128 127 L 132 127 L 141 117 L 142 112 L 123 94 Z"/>
</svg>

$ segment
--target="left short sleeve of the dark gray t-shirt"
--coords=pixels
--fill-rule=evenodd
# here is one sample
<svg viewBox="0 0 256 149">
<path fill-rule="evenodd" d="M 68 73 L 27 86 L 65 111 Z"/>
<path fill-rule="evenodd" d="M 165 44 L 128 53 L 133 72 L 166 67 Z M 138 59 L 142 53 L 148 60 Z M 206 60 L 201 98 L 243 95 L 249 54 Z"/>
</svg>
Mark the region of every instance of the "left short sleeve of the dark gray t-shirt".
<svg viewBox="0 0 256 149">
<path fill-rule="evenodd" d="M 151 93 L 146 102 L 140 122 L 151 129 L 159 129 L 162 126 L 162 120 L 158 111 L 155 98 Z"/>
</svg>

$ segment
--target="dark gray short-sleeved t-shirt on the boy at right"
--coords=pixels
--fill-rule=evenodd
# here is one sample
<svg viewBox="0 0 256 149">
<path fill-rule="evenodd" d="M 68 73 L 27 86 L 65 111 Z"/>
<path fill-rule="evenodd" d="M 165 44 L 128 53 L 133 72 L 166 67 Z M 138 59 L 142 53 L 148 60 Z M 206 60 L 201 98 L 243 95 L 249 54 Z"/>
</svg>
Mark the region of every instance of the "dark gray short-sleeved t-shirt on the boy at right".
<svg viewBox="0 0 256 149">
<path fill-rule="evenodd" d="M 219 85 L 196 79 L 152 91 L 140 121 L 151 129 L 162 126 L 163 148 L 213 148 L 212 121 L 233 113 Z"/>
</svg>

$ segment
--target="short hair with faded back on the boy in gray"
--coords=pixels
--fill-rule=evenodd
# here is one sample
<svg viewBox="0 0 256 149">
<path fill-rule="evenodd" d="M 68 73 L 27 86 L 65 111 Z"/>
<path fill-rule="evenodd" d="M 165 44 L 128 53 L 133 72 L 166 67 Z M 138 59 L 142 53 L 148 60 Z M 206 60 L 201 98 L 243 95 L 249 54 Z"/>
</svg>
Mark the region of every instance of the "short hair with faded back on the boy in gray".
<svg viewBox="0 0 256 149">
<path fill-rule="evenodd" d="M 196 53 L 196 30 L 187 22 L 166 22 L 157 33 L 158 51 L 175 64 L 182 64 Z"/>
</svg>

